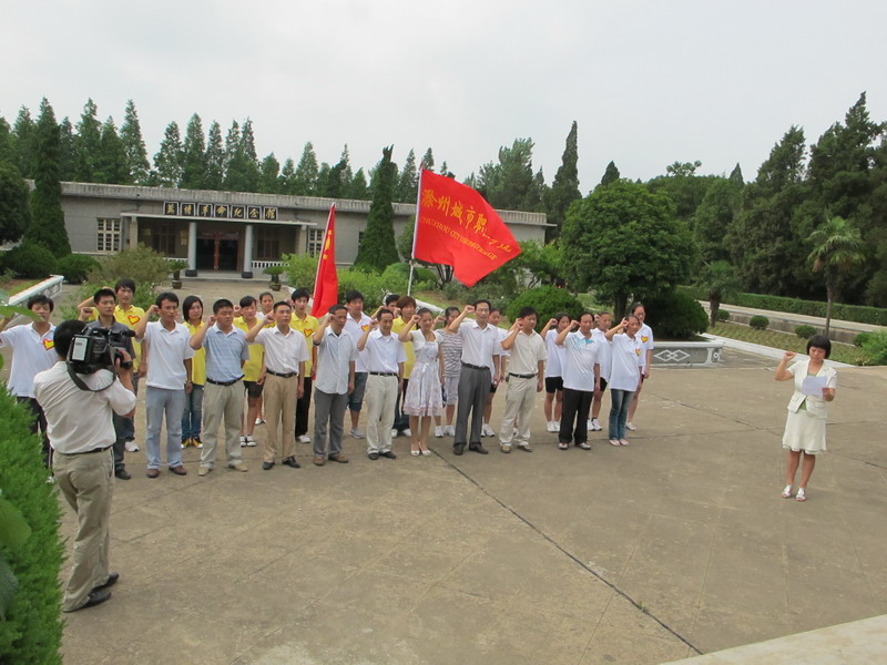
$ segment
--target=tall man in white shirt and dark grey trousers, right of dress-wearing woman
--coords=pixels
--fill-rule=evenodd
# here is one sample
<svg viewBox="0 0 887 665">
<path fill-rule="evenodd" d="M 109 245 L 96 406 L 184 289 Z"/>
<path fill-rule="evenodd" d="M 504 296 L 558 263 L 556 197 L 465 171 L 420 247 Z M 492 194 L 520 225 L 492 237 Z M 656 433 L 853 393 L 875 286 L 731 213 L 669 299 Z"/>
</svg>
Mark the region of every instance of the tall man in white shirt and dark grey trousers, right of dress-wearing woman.
<svg viewBox="0 0 887 665">
<path fill-rule="evenodd" d="M 475 315 L 475 320 L 466 321 L 465 317 Z M 459 403 L 456 410 L 456 436 L 452 442 L 453 454 L 468 449 L 487 454 L 487 449 L 480 442 L 483 426 L 483 407 L 490 387 L 499 385 L 499 328 L 489 325 L 490 301 L 478 300 L 473 305 L 466 305 L 462 313 L 447 326 L 450 332 L 456 332 L 462 338 L 462 371 L 459 376 Z M 492 368 L 490 366 L 492 357 Z M 468 431 L 468 417 L 471 415 L 471 431 Z"/>
</svg>

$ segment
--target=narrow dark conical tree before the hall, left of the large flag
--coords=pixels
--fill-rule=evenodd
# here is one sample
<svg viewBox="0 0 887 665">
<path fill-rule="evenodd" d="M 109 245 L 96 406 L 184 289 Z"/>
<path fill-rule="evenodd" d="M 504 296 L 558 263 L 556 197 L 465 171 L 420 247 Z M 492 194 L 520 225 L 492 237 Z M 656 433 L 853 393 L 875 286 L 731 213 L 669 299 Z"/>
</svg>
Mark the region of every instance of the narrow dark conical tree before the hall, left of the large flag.
<svg viewBox="0 0 887 665">
<path fill-rule="evenodd" d="M 354 265 L 381 272 L 400 257 L 395 242 L 395 208 L 391 205 L 397 186 L 397 165 L 391 161 L 394 146 L 381 151 L 381 161 L 373 175 L 373 203 L 369 206 L 367 227 Z"/>
</svg>

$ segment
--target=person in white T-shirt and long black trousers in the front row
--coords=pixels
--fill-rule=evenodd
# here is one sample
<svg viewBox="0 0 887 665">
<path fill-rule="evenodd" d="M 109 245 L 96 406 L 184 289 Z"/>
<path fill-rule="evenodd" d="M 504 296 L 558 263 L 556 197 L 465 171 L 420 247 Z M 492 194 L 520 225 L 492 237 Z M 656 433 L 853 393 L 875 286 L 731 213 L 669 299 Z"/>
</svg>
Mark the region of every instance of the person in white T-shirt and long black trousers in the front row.
<svg viewBox="0 0 887 665">
<path fill-rule="evenodd" d="M 601 344 L 591 335 L 594 315 L 582 313 L 578 321 L 558 334 L 555 344 L 565 350 L 563 371 L 563 410 L 558 432 L 558 448 L 567 450 L 572 441 L 577 448 L 589 446 L 589 410 L 594 392 L 601 389 L 601 366 L 598 348 Z M 577 328 L 575 332 L 570 332 Z"/>
</svg>

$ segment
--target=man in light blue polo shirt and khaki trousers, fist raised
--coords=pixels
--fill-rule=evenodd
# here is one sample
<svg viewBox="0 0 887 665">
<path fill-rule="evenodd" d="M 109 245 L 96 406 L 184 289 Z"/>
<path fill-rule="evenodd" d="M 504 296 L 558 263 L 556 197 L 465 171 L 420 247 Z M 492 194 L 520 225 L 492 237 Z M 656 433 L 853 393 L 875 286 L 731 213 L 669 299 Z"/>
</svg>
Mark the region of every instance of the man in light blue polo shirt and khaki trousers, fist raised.
<svg viewBox="0 0 887 665">
<path fill-rule="evenodd" d="M 206 385 L 203 395 L 203 449 L 197 475 L 206 475 L 215 464 L 218 426 L 225 422 L 225 456 L 228 469 L 246 471 L 241 454 L 243 413 L 243 364 L 249 347 L 243 330 L 234 327 L 234 305 L 222 298 L 213 304 L 206 325 L 191 337 L 192 349 L 206 349 Z"/>
</svg>

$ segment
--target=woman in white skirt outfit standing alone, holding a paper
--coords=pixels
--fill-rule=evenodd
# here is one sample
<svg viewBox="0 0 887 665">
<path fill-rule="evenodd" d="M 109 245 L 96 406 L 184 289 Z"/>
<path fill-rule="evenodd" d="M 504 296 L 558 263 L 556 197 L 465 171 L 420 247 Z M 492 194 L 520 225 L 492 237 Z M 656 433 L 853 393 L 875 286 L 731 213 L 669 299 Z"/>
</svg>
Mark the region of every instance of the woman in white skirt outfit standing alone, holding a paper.
<svg viewBox="0 0 887 665">
<path fill-rule="evenodd" d="M 826 367 L 825 359 L 832 355 L 832 342 L 823 335 L 814 335 L 807 342 L 808 359 L 798 360 L 791 367 L 788 361 L 796 354 L 785 351 L 779 366 L 776 368 L 776 380 L 794 380 L 795 392 L 788 402 L 788 418 L 785 422 L 783 448 L 788 451 L 785 464 L 785 489 L 783 499 L 792 497 L 795 484 L 795 474 L 801 464 L 801 483 L 795 499 L 807 500 L 807 482 L 816 467 L 816 456 L 825 451 L 825 421 L 828 417 L 828 402 L 835 399 L 835 389 L 838 386 L 838 374 L 832 367 Z M 806 395 L 804 379 L 816 377 L 822 386 L 814 386 L 818 395 Z M 809 387 L 808 390 L 809 391 Z"/>
</svg>

